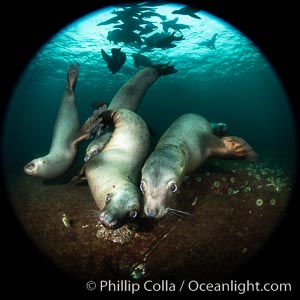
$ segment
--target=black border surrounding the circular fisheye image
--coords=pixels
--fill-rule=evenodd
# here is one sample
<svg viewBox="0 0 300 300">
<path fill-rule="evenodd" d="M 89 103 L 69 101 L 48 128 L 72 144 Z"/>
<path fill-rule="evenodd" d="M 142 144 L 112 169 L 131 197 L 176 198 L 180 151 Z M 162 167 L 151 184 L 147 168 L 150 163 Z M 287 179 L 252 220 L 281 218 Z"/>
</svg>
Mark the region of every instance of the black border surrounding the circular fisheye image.
<svg viewBox="0 0 300 300">
<path fill-rule="evenodd" d="M 119 1 L 120 2 L 120 1 Z M 185 1 L 187 2 L 187 1 Z M 192 1 L 189 1 L 193 4 Z M 284 3 L 270 0 L 206 0 L 194 1 L 205 10 L 223 18 L 245 33 L 259 46 L 274 66 L 291 99 L 298 124 L 296 109 L 297 77 L 299 73 L 297 45 L 296 1 Z M 106 2 L 112 4 L 113 1 Z M 5 104 L 19 75 L 27 62 L 54 33 L 78 17 L 104 6 L 104 1 L 62 0 L 7 2 L 1 11 L 2 84 L 0 88 L 1 119 Z M 26 101 L 26 100 L 24 100 Z M 299 111 L 299 110 L 298 110 Z M 20 133 L 21 134 L 21 133 Z M 26 133 L 22 133 L 26 134 Z M 4 191 L 2 198 L 6 198 Z M 277 233 L 251 264 L 234 274 L 233 279 L 261 281 L 289 281 L 296 289 L 298 269 L 296 208 L 298 193 L 293 194 L 288 216 L 280 224 Z M 13 212 L 6 201 L 1 200 L 1 253 L 5 264 L 1 266 L 6 280 L 2 292 L 24 295 L 81 295 L 87 293 L 81 282 L 75 282 L 47 262 L 31 245 L 21 228 L 15 223 Z M 3 207 L 2 207 L 3 206 Z M 4 284 L 3 284 L 4 283 Z M 100 293 L 96 293 L 101 297 Z M 169 295 L 170 296 L 170 295 Z"/>
</svg>

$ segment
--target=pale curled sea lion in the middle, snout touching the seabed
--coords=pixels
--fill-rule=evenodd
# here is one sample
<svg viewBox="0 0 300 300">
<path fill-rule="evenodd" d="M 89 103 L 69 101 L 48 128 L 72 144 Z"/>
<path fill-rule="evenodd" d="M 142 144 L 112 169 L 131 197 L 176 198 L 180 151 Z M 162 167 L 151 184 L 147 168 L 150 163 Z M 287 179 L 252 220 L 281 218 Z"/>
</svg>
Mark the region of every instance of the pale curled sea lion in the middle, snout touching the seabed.
<svg viewBox="0 0 300 300">
<path fill-rule="evenodd" d="M 85 175 L 101 211 L 100 222 L 115 229 L 140 210 L 138 182 L 150 148 L 150 134 L 143 119 L 130 110 L 108 110 L 101 118 L 105 124 L 110 120 L 114 131 L 102 151 L 85 163 Z"/>
</svg>

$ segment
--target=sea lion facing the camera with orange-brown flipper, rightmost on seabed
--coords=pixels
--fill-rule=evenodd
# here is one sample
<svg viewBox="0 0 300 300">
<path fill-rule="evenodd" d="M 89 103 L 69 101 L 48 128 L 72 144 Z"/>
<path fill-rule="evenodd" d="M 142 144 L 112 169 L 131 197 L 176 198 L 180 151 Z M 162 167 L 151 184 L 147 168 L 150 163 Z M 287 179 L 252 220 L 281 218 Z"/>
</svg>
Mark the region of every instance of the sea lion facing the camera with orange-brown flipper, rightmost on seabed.
<svg viewBox="0 0 300 300">
<path fill-rule="evenodd" d="M 210 123 L 200 115 L 189 113 L 175 120 L 142 168 L 140 188 L 146 216 L 164 216 L 184 176 L 212 156 L 252 162 L 258 159 L 242 138 L 217 137 Z"/>
</svg>

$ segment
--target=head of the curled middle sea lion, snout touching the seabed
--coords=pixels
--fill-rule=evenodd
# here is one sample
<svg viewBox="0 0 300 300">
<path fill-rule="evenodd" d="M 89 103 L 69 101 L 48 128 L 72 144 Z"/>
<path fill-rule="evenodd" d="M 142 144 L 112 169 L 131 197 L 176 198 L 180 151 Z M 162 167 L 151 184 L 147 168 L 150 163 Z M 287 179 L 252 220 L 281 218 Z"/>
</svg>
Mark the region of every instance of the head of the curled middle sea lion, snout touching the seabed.
<svg viewBox="0 0 300 300">
<path fill-rule="evenodd" d="M 140 211 L 141 193 L 136 185 L 126 183 L 105 196 L 100 222 L 108 229 L 117 229 L 135 219 Z"/>
</svg>

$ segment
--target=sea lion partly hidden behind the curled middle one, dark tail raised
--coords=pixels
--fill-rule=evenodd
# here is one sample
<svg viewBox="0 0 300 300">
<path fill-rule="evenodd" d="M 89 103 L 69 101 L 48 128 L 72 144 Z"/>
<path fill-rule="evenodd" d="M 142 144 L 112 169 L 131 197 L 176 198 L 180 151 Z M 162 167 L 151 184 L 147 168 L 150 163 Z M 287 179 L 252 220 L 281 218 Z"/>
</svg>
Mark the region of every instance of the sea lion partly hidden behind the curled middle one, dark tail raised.
<svg viewBox="0 0 300 300">
<path fill-rule="evenodd" d="M 117 94 L 111 100 L 108 110 L 125 108 L 134 112 L 137 111 L 146 91 L 156 79 L 160 76 L 176 72 L 178 71 L 175 67 L 169 66 L 169 63 L 153 65 L 140 70 L 119 89 Z M 93 139 L 86 149 L 85 161 L 101 152 L 103 145 L 107 140 L 107 135 L 102 135 Z"/>
</svg>

